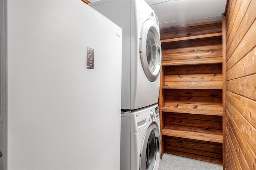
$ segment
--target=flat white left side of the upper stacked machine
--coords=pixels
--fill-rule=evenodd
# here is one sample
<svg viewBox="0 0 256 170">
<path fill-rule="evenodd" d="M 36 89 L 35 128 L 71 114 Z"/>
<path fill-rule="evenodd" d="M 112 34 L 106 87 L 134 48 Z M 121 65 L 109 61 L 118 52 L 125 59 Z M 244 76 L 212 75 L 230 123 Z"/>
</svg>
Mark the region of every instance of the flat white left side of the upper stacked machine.
<svg viewBox="0 0 256 170">
<path fill-rule="evenodd" d="M 131 2 L 101 0 L 88 4 L 122 28 L 122 109 L 131 109 Z"/>
</svg>

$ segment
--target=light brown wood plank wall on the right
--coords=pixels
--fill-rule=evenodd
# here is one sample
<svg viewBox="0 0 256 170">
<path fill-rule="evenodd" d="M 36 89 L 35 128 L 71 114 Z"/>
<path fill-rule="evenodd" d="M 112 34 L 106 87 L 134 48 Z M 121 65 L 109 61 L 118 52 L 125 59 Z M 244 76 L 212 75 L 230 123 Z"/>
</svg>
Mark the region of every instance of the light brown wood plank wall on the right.
<svg viewBox="0 0 256 170">
<path fill-rule="evenodd" d="M 256 0 L 226 6 L 226 169 L 256 169 Z"/>
</svg>

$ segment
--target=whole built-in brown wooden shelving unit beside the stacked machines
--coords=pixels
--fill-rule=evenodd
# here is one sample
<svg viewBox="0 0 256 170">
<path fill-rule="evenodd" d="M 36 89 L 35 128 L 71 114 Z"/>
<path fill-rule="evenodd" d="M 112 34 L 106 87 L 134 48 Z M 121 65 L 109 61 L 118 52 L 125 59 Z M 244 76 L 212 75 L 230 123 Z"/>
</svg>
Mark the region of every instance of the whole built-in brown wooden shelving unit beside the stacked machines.
<svg viewBox="0 0 256 170">
<path fill-rule="evenodd" d="M 222 164 L 222 21 L 163 28 L 160 38 L 161 154 Z"/>
</svg>

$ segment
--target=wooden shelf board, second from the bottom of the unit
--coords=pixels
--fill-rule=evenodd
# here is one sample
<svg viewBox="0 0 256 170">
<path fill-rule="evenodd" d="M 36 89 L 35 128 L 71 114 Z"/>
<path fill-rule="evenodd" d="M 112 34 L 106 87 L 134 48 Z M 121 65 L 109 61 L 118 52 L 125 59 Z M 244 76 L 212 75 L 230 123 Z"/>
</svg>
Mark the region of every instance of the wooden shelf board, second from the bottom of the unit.
<svg viewBox="0 0 256 170">
<path fill-rule="evenodd" d="M 217 109 L 216 110 L 214 110 L 214 109 L 196 109 L 197 106 L 198 105 L 191 105 L 192 108 L 163 107 L 162 108 L 162 112 L 174 112 L 174 113 L 189 113 L 189 114 L 198 114 L 198 115 L 222 116 L 222 110 L 219 109 L 220 106 L 217 106 L 218 110 Z"/>
</svg>

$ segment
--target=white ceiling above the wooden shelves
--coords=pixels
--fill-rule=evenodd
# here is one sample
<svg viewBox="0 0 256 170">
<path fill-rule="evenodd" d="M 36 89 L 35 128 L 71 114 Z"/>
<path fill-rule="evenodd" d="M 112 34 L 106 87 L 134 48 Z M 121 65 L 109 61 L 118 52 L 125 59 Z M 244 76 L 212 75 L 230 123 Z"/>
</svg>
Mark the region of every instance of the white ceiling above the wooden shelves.
<svg viewBox="0 0 256 170">
<path fill-rule="evenodd" d="M 95 2 L 98 0 L 89 0 Z M 160 28 L 222 20 L 227 0 L 145 0 L 158 17 Z"/>
</svg>

